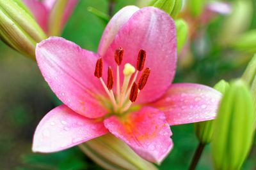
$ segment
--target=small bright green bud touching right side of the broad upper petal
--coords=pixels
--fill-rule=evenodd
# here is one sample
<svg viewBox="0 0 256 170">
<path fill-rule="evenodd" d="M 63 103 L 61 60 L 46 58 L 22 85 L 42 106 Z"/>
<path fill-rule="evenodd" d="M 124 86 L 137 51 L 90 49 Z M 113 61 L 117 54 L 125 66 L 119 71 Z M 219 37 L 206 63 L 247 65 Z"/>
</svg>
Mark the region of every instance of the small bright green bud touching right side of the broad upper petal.
<svg viewBox="0 0 256 170">
<path fill-rule="evenodd" d="M 186 21 L 179 19 L 175 20 L 175 25 L 177 29 L 177 49 L 179 53 L 188 39 L 188 24 Z"/>
</svg>

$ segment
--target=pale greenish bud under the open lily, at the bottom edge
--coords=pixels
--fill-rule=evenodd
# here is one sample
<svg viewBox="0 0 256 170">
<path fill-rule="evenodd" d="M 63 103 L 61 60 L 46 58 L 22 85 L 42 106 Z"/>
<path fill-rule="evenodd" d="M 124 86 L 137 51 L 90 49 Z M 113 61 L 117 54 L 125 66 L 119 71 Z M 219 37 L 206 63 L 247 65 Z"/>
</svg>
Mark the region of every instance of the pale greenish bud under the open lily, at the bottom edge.
<svg viewBox="0 0 256 170">
<path fill-rule="evenodd" d="M 88 157 L 105 169 L 157 170 L 154 164 L 142 159 L 112 134 L 92 139 L 79 147 Z"/>
</svg>

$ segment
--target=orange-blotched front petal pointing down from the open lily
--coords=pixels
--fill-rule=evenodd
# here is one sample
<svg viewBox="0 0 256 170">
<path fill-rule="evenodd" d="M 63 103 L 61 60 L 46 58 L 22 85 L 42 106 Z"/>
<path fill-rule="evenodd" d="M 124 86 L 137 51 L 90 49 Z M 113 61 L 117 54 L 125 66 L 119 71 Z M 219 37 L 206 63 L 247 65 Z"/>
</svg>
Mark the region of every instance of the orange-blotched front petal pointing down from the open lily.
<svg viewBox="0 0 256 170">
<path fill-rule="evenodd" d="M 172 149 L 172 132 L 164 113 L 145 107 L 124 117 L 110 117 L 104 125 L 134 152 L 151 162 L 160 163 Z"/>
</svg>

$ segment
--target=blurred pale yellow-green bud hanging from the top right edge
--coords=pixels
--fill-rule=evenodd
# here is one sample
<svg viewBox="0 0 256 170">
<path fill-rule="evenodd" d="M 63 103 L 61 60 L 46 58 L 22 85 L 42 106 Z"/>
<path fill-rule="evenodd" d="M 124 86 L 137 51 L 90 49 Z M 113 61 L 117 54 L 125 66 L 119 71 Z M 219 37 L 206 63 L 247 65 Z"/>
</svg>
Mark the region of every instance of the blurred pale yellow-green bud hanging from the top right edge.
<svg viewBox="0 0 256 170">
<path fill-rule="evenodd" d="M 223 20 L 220 28 L 219 43 L 223 46 L 232 45 L 236 38 L 248 27 L 252 22 L 253 3 L 251 0 L 234 1 L 232 3 L 232 13 Z"/>
</svg>

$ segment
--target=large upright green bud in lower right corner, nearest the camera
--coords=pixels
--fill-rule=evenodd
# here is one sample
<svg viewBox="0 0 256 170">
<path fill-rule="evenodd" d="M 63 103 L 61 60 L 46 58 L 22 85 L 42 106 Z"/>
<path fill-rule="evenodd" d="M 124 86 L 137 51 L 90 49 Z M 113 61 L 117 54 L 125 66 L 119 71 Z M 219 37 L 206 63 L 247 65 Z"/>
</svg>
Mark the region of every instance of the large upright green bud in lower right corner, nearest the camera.
<svg viewBox="0 0 256 170">
<path fill-rule="evenodd" d="M 214 122 L 212 156 L 215 169 L 241 169 L 252 146 L 253 102 L 242 80 L 230 84 Z"/>
</svg>

